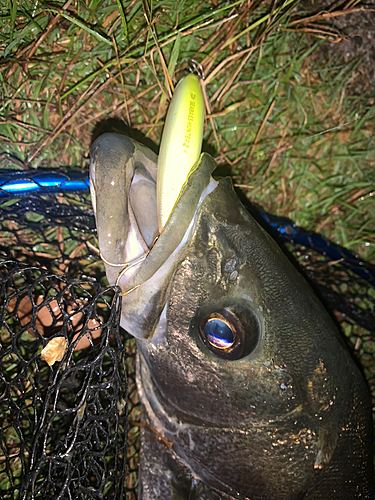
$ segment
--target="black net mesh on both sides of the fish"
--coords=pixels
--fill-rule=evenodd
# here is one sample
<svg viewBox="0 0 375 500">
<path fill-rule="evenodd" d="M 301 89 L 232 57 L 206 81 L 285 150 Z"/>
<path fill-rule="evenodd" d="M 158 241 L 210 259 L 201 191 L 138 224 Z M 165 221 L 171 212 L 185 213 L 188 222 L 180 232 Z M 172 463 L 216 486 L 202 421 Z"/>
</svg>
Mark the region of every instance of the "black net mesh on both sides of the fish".
<svg viewBox="0 0 375 500">
<path fill-rule="evenodd" d="M 90 198 L 0 201 L 4 499 L 135 499 L 135 344 L 97 252 Z M 375 394 L 375 288 L 350 266 L 287 243 L 335 314 Z M 365 264 L 361 264 L 362 266 Z"/>
</svg>

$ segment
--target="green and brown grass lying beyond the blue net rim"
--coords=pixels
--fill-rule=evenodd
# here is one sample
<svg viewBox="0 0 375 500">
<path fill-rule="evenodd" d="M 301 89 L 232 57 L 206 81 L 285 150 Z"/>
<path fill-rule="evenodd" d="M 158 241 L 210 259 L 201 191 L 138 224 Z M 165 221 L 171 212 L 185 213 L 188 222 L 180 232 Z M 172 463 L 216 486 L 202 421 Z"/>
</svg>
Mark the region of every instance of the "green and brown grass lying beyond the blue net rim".
<svg viewBox="0 0 375 500">
<path fill-rule="evenodd" d="M 290 0 L 6 0 L 0 168 L 87 171 L 108 129 L 157 151 L 173 86 L 194 59 L 204 149 L 220 171 L 264 210 L 375 262 L 375 101 L 353 91 L 360 62 L 322 62 L 321 44 L 340 38 L 329 14 L 309 21 Z"/>
</svg>

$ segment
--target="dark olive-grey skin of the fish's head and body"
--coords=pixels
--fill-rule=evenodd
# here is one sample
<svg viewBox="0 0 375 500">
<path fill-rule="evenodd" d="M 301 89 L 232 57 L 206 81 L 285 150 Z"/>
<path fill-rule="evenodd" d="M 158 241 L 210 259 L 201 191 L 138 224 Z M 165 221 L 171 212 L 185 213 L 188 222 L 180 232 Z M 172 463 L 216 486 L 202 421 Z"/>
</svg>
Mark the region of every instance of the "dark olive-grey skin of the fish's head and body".
<svg viewBox="0 0 375 500">
<path fill-rule="evenodd" d="M 114 135 L 98 141 L 97 221 L 107 203 L 99 172 L 109 175 L 111 151 L 123 148 L 132 171 L 141 147 Z M 243 208 L 231 181 L 201 181 L 215 164 L 208 155 L 200 163 L 146 260 L 121 284 L 124 291 L 139 285 L 124 296 L 122 311 L 123 326 L 137 338 L 137 385 L 149 425 L 142 429 L 139 498 L 373 500 L 371 404 L 360 371 L 322 304 Z M 192 206 L 200 182 L 201 191 L 211 188 Z M 147 268 L 154 271 L 189 210 L 194 220 L 185 244 L 166 250 L 165 264 L 152 274 Z M 134 258 L 127 256 L 120 260 Z M 205 318 L 220 311 L 241 332 L 235 359 L 213 352 L 200 333 Z"/>
</svg>

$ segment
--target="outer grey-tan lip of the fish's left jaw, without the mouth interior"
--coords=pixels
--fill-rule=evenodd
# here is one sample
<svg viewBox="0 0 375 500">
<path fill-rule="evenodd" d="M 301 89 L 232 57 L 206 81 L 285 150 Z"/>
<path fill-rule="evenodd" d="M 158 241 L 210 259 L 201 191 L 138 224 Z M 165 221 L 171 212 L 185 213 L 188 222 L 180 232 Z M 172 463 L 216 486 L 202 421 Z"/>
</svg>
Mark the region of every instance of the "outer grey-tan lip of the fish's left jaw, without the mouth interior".
<svg viewBox="0 0 375 500">
<path fill-rule="evenodd" d="M 142 238 L 134 238 L 137 226 L 129 225 L 131 217 L 134 221 L 130 187 L 139 168 L 147 174 L 150 184 L 156 182 L 156 162 L 157 157 L 152 151 L 120 134 L 103 134 L 92 145 L 90 192 L 99 249 L 111 285 L 115 284 L 121 266 L 147 250 Z M 131 236 L 138 248 L 129 255 Z"/>
</svg>

